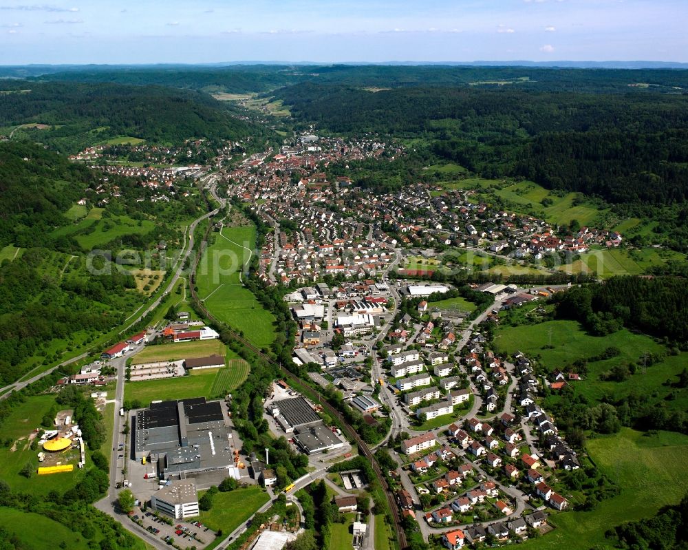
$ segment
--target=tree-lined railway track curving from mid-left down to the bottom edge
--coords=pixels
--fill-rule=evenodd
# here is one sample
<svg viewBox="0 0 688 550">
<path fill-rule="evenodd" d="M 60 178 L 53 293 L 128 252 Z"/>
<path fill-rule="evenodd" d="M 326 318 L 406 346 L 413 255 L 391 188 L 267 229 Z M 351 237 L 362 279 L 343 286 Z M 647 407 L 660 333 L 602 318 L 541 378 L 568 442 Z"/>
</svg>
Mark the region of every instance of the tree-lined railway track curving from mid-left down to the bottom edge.
<svg viewBox="0 0 688 550">
<path fill-rule="evenodd" d="M 211 209 L 210 204 L 208 204 L 206 200 L 206 204 L 208 206 L 208 210 Z M 194 258 L 193 258 L 193 267 L 191 268 L 191 276 L 189 277 L 189 288 L 191 288 L 191 296 L 193 297 L 194 302 L 198 305 L 198 307 L 202 310 L 203 314 L 206 316 L 207 319 L 215 323 L 217 326 L 221 326 L 224 329 L 226 329 L 230 335 L 232 335 L 233 339 L 241 342 L 244 346 L 246 346 L 248 349 L 252 350 L 260 359 L 263 359 L 267 363 L 270 363 L 273 366 L 276 366 L 279 368 L 279 370 L 282 372 L 284 377 L 287 379 L 290 379 L 292 381 L 296 381 L 297 383 L 304 383 L 303 380 L 301 380 L 299 377 L 297 377 L 296 374 L 288 370 L 286 367 L 282 366 L 280 363 L 277 363 L 277 361 L 273 360 L 271 357 L 268 357 L 266 354 L 264 354 L 257 346 L 252 344 L 250 341 L 248 341 L 246 338 L 241 336 L 236 330 L 233 330 L 233 328 L 227 326 L 224 322 L 219 321 L 208 309 L 206 308 L 205 304 L 200 301 L 196 294 L 195 290 L 195 273 L 196 273 L 196 267 L 198 265 L 198 262 L 200 261 L 200 257 L 203 251 L 203 244 L 205 244 L 208 240 L 208 235 L 210 234 L 210 231 L 212 229 L 212 224 L 208 224 L 208 227 L 206 228 L 206 232 L 203 235 L 203 238 L 201 240 L 200 246 L 198 247 L 198 251 L 195 253 Z M 408 546 L 407 540 L 406 540 L 406 533 L 401 525 L 401 518 L 399 516 L 399 509 L 396 505 L 396 501 L 394 500 L 394 495 L 391 493 L 391 490 L 389 489 L 389 485 L 387 484 L 387 479 L 383 475 L 382 469 L 380 469 L 380 465 L 378 464 L 378 461 L 376 460 L 375 456 L 371 452 L 370 448 L 368 447 L 367 443 L 363 441 L 363 438 L 358 435 L 358 432 L 354 430 L 354 427 L 347 423 L 347 421 L 344 419 L 343 414 L 336 410 L 328 401 L 327 398 L 321 394 L 318 390 L 311 388 L 310 386 L 308 387 L 311 392 L 313 392 L 319 399 L 319 403 L 323 405 L 323 408 L 327 409 L 327 412 L 329 414 L 332 414 L 334 418 L 336 418 L 341 425 L 344 427 L 344 432 L 347 434 L 347 436 L 352 440 L 356 441 L 356 445 L 358 445 L 358 449 L 360 450 L 361 454 L 365 456 L 367 461 L 369 461 L 370 465 L 373 468 L 373 471 L 375 472 L 376 478 L 378 478 L 378 482 L 380 483 L 380 486 L 383 488 L 385 491 L 385 495 L 387 496 L 387 504 L 389 505 L 389 509 L 391 511 L 391 515 L 394 518 L 394 528 L 396 529 L 396 538 L 399 543 L 399 547 L 401 550 L 405 550 Z"/>
</svg>

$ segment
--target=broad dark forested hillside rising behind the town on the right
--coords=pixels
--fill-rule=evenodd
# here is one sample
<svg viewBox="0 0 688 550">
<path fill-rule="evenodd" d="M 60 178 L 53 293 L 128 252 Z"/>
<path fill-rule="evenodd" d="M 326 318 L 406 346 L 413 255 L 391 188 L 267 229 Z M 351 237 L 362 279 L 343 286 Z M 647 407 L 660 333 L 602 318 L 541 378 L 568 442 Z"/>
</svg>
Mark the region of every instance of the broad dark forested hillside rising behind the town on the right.
<svg viewBox="0 0 688 550">
<path fill-rule="evenodd" d="M 610 202 L 688 199 L 688 96 L 302 83 L 277 96 L 303 123 L 422 136 L 488 178 L 523 176 Z"/>
</svg>

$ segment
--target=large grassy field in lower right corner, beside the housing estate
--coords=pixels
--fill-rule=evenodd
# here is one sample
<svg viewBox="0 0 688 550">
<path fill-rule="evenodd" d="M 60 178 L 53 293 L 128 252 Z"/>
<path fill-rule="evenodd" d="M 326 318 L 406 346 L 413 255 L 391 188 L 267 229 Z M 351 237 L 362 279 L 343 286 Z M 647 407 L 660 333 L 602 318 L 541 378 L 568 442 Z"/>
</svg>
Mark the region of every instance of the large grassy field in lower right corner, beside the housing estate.
<svg viewBox="0 0 688 550">
<path fill-rule="evenodd" d="M 688 491 L 683 467 L 688 460 L 688 436 L 660 432 L 647 437 L 623 428 L 614 436 L 588 441 L 588 452 L 596 465 L 621 486 L 621 494 L 603 500 L 594 511 L 551 516 L 550 523 L 557 529 L 522 547 L 610 548 L 604 538 L 607 529 L 653 516 L 660 507 L 677 504 Z"/>
</svg>

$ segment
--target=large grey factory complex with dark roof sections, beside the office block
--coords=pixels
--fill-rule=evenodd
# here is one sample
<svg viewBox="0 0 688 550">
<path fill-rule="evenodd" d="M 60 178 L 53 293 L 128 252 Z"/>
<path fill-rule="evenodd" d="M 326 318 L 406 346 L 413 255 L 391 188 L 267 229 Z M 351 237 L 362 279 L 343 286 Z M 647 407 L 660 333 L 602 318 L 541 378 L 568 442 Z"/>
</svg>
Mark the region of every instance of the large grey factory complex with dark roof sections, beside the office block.
<svg viewBox="0 0 688 550">
<path fill-rule="evenodd" d="M 229 435 L 219 401 L 204 397 L 151 403 L 133 422 L 135 456 L 157 461 L 160 479 L 220 469 L 235 476 Z"/>
</svg>

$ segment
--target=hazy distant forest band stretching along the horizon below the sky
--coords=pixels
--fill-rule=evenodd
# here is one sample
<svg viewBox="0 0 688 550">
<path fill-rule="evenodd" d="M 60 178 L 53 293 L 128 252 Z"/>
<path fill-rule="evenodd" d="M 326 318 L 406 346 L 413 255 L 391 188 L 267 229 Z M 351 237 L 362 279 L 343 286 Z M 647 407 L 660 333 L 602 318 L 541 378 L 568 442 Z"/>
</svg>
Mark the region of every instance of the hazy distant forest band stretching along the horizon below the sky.
<svg viewBox="0 0 688 550">
<path fill-rule="evenodd" d="M 575 67 L 480 67 L 447 65 L 169 65 L 151 67 L 44 67 L 25 69 L 22 76 L 41 81 L 159 84 L 224 92 L 265 92 L 309 81 L 362 87 L 498 87 L 588 92 L 676 92 L 688 87 L 688 73 L 672 69 L 597 70 Z M 636 86 L 642 84 L 641 86 Z"/>
</svg>

